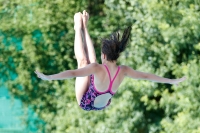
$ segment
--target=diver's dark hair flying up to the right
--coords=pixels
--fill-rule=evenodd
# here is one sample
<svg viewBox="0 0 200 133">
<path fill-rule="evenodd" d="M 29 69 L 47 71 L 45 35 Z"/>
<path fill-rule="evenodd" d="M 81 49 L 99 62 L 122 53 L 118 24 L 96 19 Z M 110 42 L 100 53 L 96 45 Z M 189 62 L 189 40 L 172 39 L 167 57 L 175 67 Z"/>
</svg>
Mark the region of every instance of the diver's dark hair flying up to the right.
<svg viewBox="0 0 200 133">
<path fill-rule="evenodd" d="M 121 52 L 123 52 L 128 44 L 131 33 L 131 26 L 127 27 L 120 40 L 119 32 L 110 35 L 110 38 L 102 39 L 101 51 L 106 55 L 108 61 L 116 61 Z"/>
</svg>

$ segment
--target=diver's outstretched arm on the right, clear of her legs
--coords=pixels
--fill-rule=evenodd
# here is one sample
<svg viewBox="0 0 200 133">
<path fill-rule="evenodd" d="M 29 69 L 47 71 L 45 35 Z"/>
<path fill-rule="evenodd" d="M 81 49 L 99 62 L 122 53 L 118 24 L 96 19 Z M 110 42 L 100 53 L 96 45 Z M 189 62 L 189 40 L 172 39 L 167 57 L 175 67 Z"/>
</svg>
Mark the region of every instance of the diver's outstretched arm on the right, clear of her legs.
<svg viewBox="0 0 200 133">
<path fill-rule="evenodd" d="M 124 67 L 125 67 L 124 74 L 134 79 L 145 79 L 145 80 L 150 80 L 150 81 L 158 82 L 158 83 L 168 83 L 168 84 L 176 84 L 176 85 L 186 79 L 186 77 L 183 77 L 180 79 L 168 79 L 168 78 L 163 78 L 163 77 L 150 74 L 150 73 L 139 72 L 127 66 L 124 66 Z"/>
</svg>

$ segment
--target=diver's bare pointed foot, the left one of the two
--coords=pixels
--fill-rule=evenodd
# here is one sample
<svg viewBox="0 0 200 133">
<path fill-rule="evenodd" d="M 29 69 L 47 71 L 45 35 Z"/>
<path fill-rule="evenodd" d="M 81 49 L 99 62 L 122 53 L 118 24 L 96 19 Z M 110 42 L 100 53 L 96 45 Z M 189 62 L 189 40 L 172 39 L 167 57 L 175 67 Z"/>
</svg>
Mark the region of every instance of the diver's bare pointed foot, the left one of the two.
<svg viewBox="0 0 200 133">
<path fill-rule="evenodd" d="M 74 30 L 81 30 L 83 27 L 82 13 L 78 12 L 74 15 Z"/>
</svg>

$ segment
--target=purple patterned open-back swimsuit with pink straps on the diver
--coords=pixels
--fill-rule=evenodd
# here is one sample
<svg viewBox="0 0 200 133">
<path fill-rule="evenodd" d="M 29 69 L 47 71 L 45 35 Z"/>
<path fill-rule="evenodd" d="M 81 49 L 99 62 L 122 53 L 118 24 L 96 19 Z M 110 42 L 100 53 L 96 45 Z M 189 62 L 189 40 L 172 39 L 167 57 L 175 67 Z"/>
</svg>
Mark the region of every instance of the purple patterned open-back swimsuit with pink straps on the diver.
<svg viewBox="0 0 200 133">
<path fill-rule="evenodd" d="M 120 70 L 120 67 L 118 66 L 118 69 L 117 69 L 117 72 L 113 78 L 113 80 L 111 80 L 111 75 L 110 75 L 110 71 L 108 70 L 108 67 L 106 65 L 104 65 L 107 72 L 108 72 L 108 75 L 109 75 L 109 78 L 110 78 L 110 85 L 108 87 L 108 89 L 104 92 L 99 92 L 95 85 L 94 85 L 94 75 L 90 75 L 90 85 L 89 85 L 89 88 L 87 90 L 87 92 L 83 95 L 82 99 L 81 99 L 81 103 L 80 103 L 80 107 L 86 111 L 90 111 L 90 110 L 102 110 L 104 108 L 106 108 L 107 106 L 110 105 L 111 103 L 111 98 L 109 99 L 108 103 L 106 104 L 106 106 L 104 107 L 101 107 L 101 108 L 97 108 L 97 107 L 94 107 L 94 101 L 95 101 L 95 98 L 100 96 L 100 95 L 103 95 L 103 94 L 106 94 L 106 93 L 110 93 L 111 96 L 113 96 L 115 93 L 112 92 L 112 84 L 115 80 L 115 78 L 117 77 L 117 74 L 119 73 L 119 70 Z"/>
</svg>

